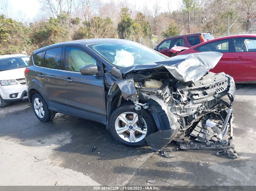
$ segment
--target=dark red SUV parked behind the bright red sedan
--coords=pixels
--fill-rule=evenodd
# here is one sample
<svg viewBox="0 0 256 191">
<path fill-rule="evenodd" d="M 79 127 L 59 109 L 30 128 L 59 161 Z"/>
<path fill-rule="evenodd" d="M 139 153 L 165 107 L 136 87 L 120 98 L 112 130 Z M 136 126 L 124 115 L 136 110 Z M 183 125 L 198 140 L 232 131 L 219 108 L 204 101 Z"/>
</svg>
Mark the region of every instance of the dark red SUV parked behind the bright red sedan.
<svg viewBox="0 0 256 191">
<path fill-rule="evenodd" d="M 197 34 L 188 34 L 188 35 L 182 35 L 177 37 L 170 37 L 165 40 L 163 40 L 161 43 L 159 43 L 155 50 L 159 53 L 162 53 L 166 56 L 170 53 L 170 50 L 174 46 L 185 46 L 185 47 L 192 47 L 199 43 L 205 42 L 207 40 L 215 39 L 215 37 L 211 33 L 197 33 Z"/>
</svg>

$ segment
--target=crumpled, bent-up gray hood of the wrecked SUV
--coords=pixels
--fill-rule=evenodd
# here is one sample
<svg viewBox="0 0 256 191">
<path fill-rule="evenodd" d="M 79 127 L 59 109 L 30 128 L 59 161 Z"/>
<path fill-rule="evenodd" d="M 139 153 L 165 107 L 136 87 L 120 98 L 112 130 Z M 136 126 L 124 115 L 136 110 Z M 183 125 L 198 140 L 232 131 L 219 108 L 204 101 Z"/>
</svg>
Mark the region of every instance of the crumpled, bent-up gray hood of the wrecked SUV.
<svg viewBox="0 0 256 191">
<path fill-rule="evenodd" d="M 219 62 L 222 53 L 202 52 L 174 56 L 159 62 L 121 68 L 123 74 L 135 70 L 166 68 L 173 77 L 182 82 L 196 82 Z"/>
</svg>

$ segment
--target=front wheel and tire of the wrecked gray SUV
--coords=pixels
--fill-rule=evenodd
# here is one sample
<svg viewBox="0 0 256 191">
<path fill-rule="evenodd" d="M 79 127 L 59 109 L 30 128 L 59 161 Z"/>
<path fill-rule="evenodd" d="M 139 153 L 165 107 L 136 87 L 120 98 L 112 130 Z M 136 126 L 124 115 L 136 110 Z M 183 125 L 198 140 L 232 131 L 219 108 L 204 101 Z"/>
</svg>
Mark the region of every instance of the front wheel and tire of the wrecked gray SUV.
<svg viewBox="0 0 256 191">
<path fill-rule="evenodd" d="M 157 131 L 155 121 L 147 110 L 141 109 L 145 129 L 141 130 L 135 105 L 125 104 L 118 107 L 110 116 L 109 130 L 119 143 L 139 147 L 147 142 L 145 137 Z"/>
</svg>

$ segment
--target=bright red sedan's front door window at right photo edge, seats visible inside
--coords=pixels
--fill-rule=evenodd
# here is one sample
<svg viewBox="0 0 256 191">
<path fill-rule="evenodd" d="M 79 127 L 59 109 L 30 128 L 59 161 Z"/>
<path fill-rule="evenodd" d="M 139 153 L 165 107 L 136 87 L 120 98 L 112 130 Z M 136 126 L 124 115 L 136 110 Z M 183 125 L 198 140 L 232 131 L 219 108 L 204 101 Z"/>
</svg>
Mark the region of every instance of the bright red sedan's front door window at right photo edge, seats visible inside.
<svg viewBox="0 0 256 191">
<path fill-rule="evenodd" d="M 256 39 L 235 38 L 235 52 L 256 52 Z"/>
</svg>

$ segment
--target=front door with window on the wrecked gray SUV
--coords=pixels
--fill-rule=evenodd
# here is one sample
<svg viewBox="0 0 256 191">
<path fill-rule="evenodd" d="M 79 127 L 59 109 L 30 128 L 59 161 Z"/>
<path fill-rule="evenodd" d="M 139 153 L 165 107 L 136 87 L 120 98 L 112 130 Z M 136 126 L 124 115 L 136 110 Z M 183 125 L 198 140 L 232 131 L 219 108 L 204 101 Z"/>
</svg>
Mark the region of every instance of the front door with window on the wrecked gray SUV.
<svg viewBox="0 0 256 191">
<path fill-rule="evenodd" d="M 102 65 L 85 49 L 65 46 L 63 87 L 71 115 L 106 122 L 105 87 Z M 101 75 L 81 75 L 80 68 L 97 65 Z"/>
</svg>

